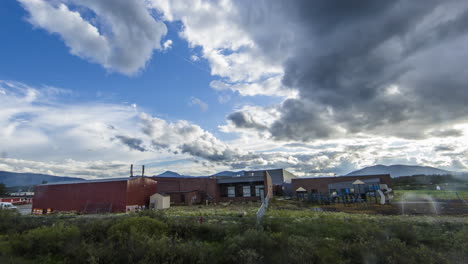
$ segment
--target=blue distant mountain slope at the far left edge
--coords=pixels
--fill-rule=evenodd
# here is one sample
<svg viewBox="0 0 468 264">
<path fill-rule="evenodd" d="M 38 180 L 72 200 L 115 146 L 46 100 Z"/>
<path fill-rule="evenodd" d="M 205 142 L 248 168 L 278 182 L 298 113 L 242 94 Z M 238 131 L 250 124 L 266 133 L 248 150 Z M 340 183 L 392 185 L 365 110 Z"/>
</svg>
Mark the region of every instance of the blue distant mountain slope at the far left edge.
<svg viewBox="0 0 468 264">
<path fill-rule="evenodd" d="M 5 184 L 6 187 L 31 186 L 41 184 L 42 182 L 54 183 L 79 180 L 84 181 L 85 179 L 77 177 L 53 176 L 38 173 L 16 173 L 0 171 L 0 183 Z"/>
</svg>

